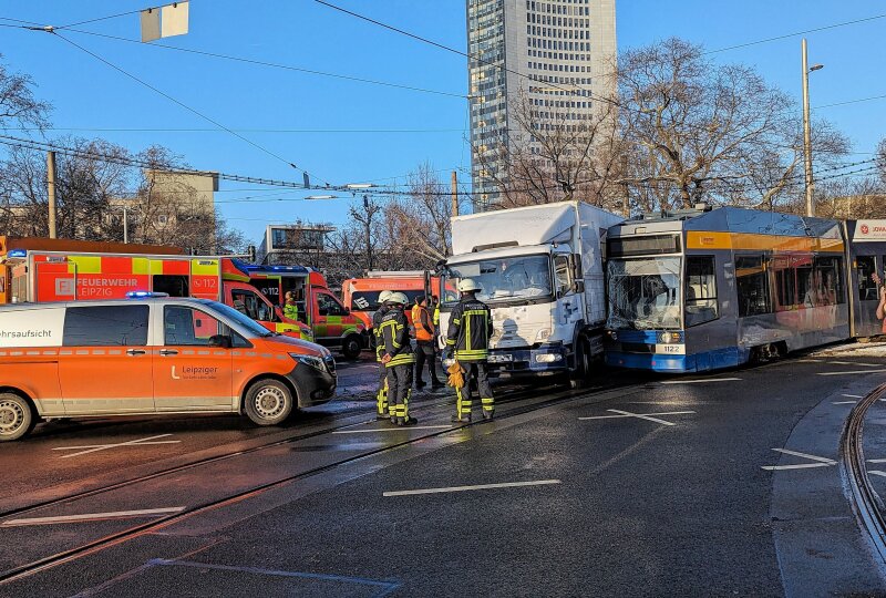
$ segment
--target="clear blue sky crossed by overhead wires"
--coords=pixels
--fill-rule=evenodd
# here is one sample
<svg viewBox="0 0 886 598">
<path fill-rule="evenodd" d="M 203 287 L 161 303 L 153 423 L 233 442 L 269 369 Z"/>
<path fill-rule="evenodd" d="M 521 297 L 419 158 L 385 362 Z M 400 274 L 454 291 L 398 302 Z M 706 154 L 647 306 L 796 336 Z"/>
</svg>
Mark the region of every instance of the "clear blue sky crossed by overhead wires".
<svg viewBox="0 0 886 598">
<path fill-rule="evenodd" d="M 465 49 L 463 0 L 336 3 Z M 145 8 L 144 2 L 132 0 L 0 0 L 0 17 L 62 25 L 141 8 Z M 861 0 L 620 0 L 617 11 L 618 44 L 622 50 L 671 35 L 715 50 L 885 13 L 886 4 Z M 138 17 L 109 19 L 79 29 L 137 39 Z M 813 106 L 886 94 L 884 33 L 886 19 L 806 35 L 811 62 L 826 65 L 812 75 Z M 402 176 L 423 162 L 440 171 L 462 169 L 461 176 L 467 178 L 464 99 L 229 62 L 82 33 L 68 35 L 225 126 L 299 131 L 241 134 L 308 169 L 315 183 L 392 183 L 391 177 L 401 177 L 395 182 L 402 184 Z M 190 33 L 162 43 L 453 94 L 464 94 L 466 90 L 463 56 L 311 0 L 192 0 Z M 159 143 L 184 155 L 197 168 L 301 179 L 300 173 L 228 133 L 156 131 L 214 126 L 60 39 L 0 28 L 0 52 L 12 70 L 34 79 L 38 95 L 54 105 L 52 121 L 56 127 L 152 130 L 75 133 L 102 136 L 132 151 Z M 714 53 L 711 58 L 752 64 L 767 81 L 800 97 L 800 38 Z M 856 152 L 873 152 L 886 136 L 886 100 L 817 112 L 852 138 Z M 63 133 L 66 132 L 54 132 Z M 346 219 L 346 198 L 322 203 L 291 200 L 307 194 L 280 195 L 279 189 L 257 189 L 244 183 L 223 182 L 222 189 L 217 200 L 223 213 L 255 240 L 270 220 Z M 264 194 L 286 200 L 235 202 L 255 202 Z"/>
</svg>

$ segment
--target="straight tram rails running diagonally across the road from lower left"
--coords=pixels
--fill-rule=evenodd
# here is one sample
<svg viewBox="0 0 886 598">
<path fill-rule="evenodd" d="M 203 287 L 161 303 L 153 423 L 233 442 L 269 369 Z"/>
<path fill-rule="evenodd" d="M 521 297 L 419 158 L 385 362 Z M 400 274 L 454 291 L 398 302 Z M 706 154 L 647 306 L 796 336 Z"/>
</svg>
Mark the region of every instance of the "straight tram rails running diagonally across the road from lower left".
<svg viewBox="0 0 886 598">
<path fill-rule="evenodd" d="M 516 416 L 519 416 L 519 415 L 532 413 L 534 411 L 539 411 L 539 410 L 543 410 L 543 409 L 546 409 L 546 408 L 549 408 L 549 406 L 553 406 L 553 405 L 562 404 L 562 403 L 565 403 L 565 402 L 568 402 L 568 401 L 578 400 L 578 399 L 594 398 L 594 396 L 597 396 L 597 395 L 606 394 L 606 393 L 611 392 L 614 390 L 630 389 L 630 388 L 637 386 L 637 385 L 640 385 L 640 384 L 610 382 L 608 384 L 605 384 L 605 385 L 596 388 L 596 389 L 563 390 L 563 391 L 556 391 L 556 392 L 548 392 L 547 394 L 543 394 L 542 395 L 543 396 L 542 400 L 533 401 L 529 404 L 525 404 L 525 405 L 514 406 L 513 409 L 508 409 L 508 410 L 504 411 L 503 413 L 496 414 L 496 420 L 495 421 L 508 420 L 508 419 L 512 419 L 512 417 L 516 417 Z M 518 391 L 518 392 L 515 392 L 515 393 L 511 393 L 508 395 L 507 400 L 503 400 L 502 401 L 502 404 L 503 405 L 516 404 L 516 403 L 521 403 L 521 402 L 524 402 L 524 401 L 532 400 L 533 395 L 537 396 L 539 390 L 540 389 L 526 389 L 526 390 L 522 390 L 522 391 Z M 435 406 L 440 406 L 440 405 L 439 404 L 427 405 L 427 408 L 432 408 L 432 406 L 435 408 Z M 20 566 L 16 566 L 16 567 L 13 567 L 11 569 L 8 569 L 6 571 L 1 571 L 0 573 L 0 585 L 10 584 L 10 582 L 27 578 L 27 577 L 29 577 L 31 575 L 41 573 L 41 571 L 50 569 L 52 567 L 55 567 L 55 566 L 59 566 L 59 565 L 62 565 L 62 564 L 65 564 L 65 563 L 73 561 L 73 560 L 76 560 L 79 558 L 83 558 L 85 556 L 95 554 L 95 553 L 101 551 L 103 549 L 106 549 L 106 548 L 110 548 L 110 547 L 113 547 L 113 546 L 117 546 L 117 545 L 124 544 L 126 542 L 136 539 L 136 538 L 138 538 L 141 536 L 157 532 L 159 529 L 166 528 L 166 527 L 168 527 L 171 525 L 177 524 L 177 523 L 179 523 L 182 520 L 185 520 L 187 518 L 194 517 L 196 515 L 200 515 L 200 514 L 214 511 L 214 509 L 223 508 L 225 506 L 239 503 L 241 501 L 251 498 L 254 496 L 258 496 L 260 494 L 264 494 L 266 492 L 272 491 L 275 488 L 279 488 L 279 487 L 286 486 L 288 484 L 301 481 L 301 480 L 306 480 L 306 478 L 309 478 L 309 477 L 312 477 L 312 476 L 320 475 L 322 473 L 329 472 L 329 471 L 334 470 L 337 467 L 340 467 L 342 465 L 347 465 L 347 464 L 353 463 L 356 461 L 364 460 L 364 458 L 368 458 L 368 457 L 373 457 L 373 456 L 378 456 L 378 455 L 381 455 L 381 454 L 390 453 L 392 451 L 396 451 L 399 448 L 402 448 L 402 447 L 411 445 L 411 444 L 415 444 L 415 443 L 420 443 L 420 442 L 426 442 L 429 439 L 441 437 L 441 436 L 444 436 L 444 435 L 447 435 L 447 434 L 452 434 L 453 432 L 463 431 L 463 430 L 472 427 L 472 426 L 483 425 L 484 423 L 485 422 L 483 422 L 483 421 L 475 421 L 475 422 L 472 422 L 472 423 L 453 424 L 452 427 L 447 427 L 445 430 L 439 430 L 439 431 L 434 431 L 434 432 L 422 433 L 422 434 L 420 434 L 420 435 L 418 435 L 415 437 L 411 437 L 411 439 L 403 440 L 403 441 L 400 441 L 400 442 L 394 442 L 394 443 L 388 444 L 388 445 L 385 445 L 383 447 L 360 451 L 359 454 L 351 455 L 351 456 L 348 456 L 348 457 L 343 457 L 343 458 L 337 460 L 337 461 L 334 461 L 332 463 L 328 463 L 328 464 L 320 465 L 320 466 L 317 466 L 317 467 L 313 467 L 313 468 L 310 468 L 310 470 L 306 470 L 303 472 L 299 472 L 299 473 L 296 473 L 296 474 L 292 474 L 292 475 L 289 475 L 289 476 L 285 476 L 285 477 L 281 477 L 279 480 L 275 480 L 275 481 L 267 482 L 267 483 L 264 483 L 264 484 L 255 485 L 255 486 L 245 488 L 243 491 L 238 491 L 236 493 L 229 493 L 229 494 L 226 494 L 226 495 L 224 495 L 224 496 L 222 496 L 219 498 L 215 498 L 215 499 L 212 499 L 212 501 L 206 501 L 206 502 L 203 502 L 200 504 L 187 507 L 186 509 L 184 509 L 182 512 L 169 514 L 169 515 L 165 515 L 165 516 L 158 517 L 158 518 L 153 519 L 153 520 L 147 522 L 147 523 L 143 523 L 143 524 L 138 524 L 138 525 L 126 527 L 125 529 L 107 534 L 107 535 L 105 535 L 103 537 L 100 537 L 100 538 L 96 538 L 96 539 L 93 539 L 93 540 L 90 540 L 90 542 L 85 542 L 85 543 L 83 543 L 83 544 L 81 544 L 79 546 L 75 546 L 75 547 L 59 551 L 59 553 L 53 554 L 51 556 L 39 558 L 39 559 L 33 560 L 31 563 L 23 564 L 23 565 L 20 565 Z M 132 486 L 132 485 L 135 485 L 135 484 L 138 484 L 138 483 L 142 483 L 142 482 L 155 480 L 155 478 L 161 477 L 163 475 L 169 475 L 171 473 L 181 472 L 184 468 L 193 468 L 193 467 L 197 467 L 197 466 L 200 466 L 200 465 L 204 465 L 204 464 L 217 462 L 217 461 L 219 461 L 222 458 L 231 458 L 231 457 L 235 457 L 235 456 L 239 456 L 239 455 L 244 455 L 244 454 L 248 454 L 248 453 L 255 453 L 255 452 L 258 452 L 258 451 L 261 451 L 261 450 L 267 450 L 267 448 L 270 448 L 272 446 L 279 446 L 279 445 L 284 445 L 284 444 L 298 442 L 299 440 L 306 440 L 306 439 L 309 439 L 309 437 L 316 437 L 316 436 L 320 436 L 320 435 L 324 435 L 324 434 L 330 434 L 332 432 L 336 432 L 337 430 L 341 430 L 342 427 L 352 427 L 354 425 L 359 425 L 359 424 L 348 424 L 348 425 L 341 425 L 341 426 L 332 426 L 332 427 L 329 427 L 329 429 L 323 430 L 323 431 L 317 431 L 317 432 L 313 432 L 313 433 L 310 433 L 310 434 L 302 434 L 301 437 L 298 439 L 298 440 L 296 437 L 286 439 L 286 440 L 282 440 L 282 441 L 276 441 L 274 443 L 269 443 L 266 446 L 253 447 L 253 448 L 250 448 L 250 450 L 248 450 L 246 452 L 236 452 L 236 453 L 231 453 L 230 455 L 219 455 L 218 457 L 214 457 L 212 461 L 205 460 L 205 461 L 202 461 L 202 462 L 195 462 L 193 464 L 183 465 L 183 466 L 179 466 L 179 467 L 176 467 L 176 468 L 171 468 L 167 472 L 156 472 L 155 474 L 151 474 L 151 475 L 147 475 L 147 476 L 142 476 L 140 478 L 133 478 L 133 480 L 130 480 L 130 481 L 125 481 L 125 482 L 121 482 L 121 483 L 117 483 L 117 484 L 109 485 L 109 486 L 103 487 L 103 488 L 95 488 L 95 489 L 89 491 L 86 493 L 80 493 L 79 495 L 75 495 L 75 496 L 58 498 L 58 499 L 48 502 L 48 504 L 40 505 L 40 506 L 32 505 L 32 506 L 27 507 L 24 511 L 20 509 L 17 513 L 13 513 L 13 514 L 21 514 L 23 512 L 35 511 L 38 508 L 45 508 L 47 506 L 52 506 L 52 505 L 56 505 L 56 504 L 61 504 L 61 503 L 65 503 L 65 502 L 71 502 L 71 501 L 74 501 L 74 499 L 78 499 L 78 498 L 89 497 L 89 496 L 93 496 L 93 495 L 101 494 L 101 493 L 104 493 L 104 492 L 110 492 L 110 491 L 113 491 L 113 489 L 119 489 L 119 488 L 123 488 L 123 487 L 126 487 L 126 486 Z M 8 515 L 4 515 L 3 517 L 7 517 L 7 516 Z"/>
</svg>

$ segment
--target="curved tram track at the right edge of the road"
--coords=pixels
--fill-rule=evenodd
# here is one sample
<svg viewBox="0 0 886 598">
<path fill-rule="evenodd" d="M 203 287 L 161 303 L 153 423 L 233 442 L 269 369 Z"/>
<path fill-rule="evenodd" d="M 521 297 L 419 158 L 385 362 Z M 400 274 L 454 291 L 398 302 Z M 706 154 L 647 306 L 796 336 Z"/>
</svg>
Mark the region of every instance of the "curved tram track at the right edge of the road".
<svg viewBox="0 0 886 598">
<path fill-rule="evenodd" d="M 848 491 L 853 511 L 867 533 L 882 564 L 886 565 L 886 512 L 867 475 L 864 453 L 864 421 L 868 410 L 886 396 L 880 384 L 853 408 L 839 442 L 841 474 Z"/>
</svg>

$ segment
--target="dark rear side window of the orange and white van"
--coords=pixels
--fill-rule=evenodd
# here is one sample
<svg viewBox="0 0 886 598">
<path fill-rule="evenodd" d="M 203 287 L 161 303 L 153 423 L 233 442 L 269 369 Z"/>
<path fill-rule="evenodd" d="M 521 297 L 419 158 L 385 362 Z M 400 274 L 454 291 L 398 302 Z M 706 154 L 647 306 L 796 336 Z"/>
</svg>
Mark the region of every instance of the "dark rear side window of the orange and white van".
<svg viewBox="0 0 886 598">
<path fill-rule="evenodd" d="M 64 315 L 64 347 L 144 347 L 147 306 L 69 307 Z"/>
</svg>

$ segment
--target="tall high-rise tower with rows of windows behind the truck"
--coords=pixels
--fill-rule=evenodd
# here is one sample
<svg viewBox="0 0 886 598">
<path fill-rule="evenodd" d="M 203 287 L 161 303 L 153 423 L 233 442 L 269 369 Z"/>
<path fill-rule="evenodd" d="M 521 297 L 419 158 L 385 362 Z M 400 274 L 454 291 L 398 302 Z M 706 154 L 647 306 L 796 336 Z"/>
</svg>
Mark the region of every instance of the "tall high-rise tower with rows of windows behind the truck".
<svg viewBox="0 0 886 598">
<path fill-rule="evenodd" d="M 483 210 L 506 178 L 503 144 L 535 143 L 515 102 L 578 124 L 593 117 L 595 96 L 610 95 L 615 0 L 467 0 L 467 51 L 474 209 Z"/>
</svg>

